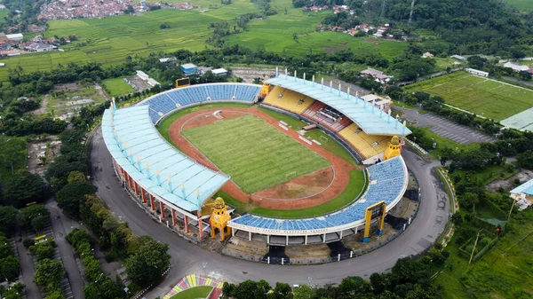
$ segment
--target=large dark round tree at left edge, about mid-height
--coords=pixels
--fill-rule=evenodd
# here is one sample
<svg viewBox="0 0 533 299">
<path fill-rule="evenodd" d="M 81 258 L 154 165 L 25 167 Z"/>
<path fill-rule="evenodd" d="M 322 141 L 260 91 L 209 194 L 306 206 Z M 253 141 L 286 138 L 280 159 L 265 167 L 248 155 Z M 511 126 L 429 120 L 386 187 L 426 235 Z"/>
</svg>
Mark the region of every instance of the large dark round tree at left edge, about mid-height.
<svg viewBox="0 0 533 299">
<path fill-rule="evenodd" d="M 11 177 L 4 185 L 4 198 L 15 208 L 22 208 L 34 201 L 44 201 L 43 177 L 22 171 Z"/>
</svg>

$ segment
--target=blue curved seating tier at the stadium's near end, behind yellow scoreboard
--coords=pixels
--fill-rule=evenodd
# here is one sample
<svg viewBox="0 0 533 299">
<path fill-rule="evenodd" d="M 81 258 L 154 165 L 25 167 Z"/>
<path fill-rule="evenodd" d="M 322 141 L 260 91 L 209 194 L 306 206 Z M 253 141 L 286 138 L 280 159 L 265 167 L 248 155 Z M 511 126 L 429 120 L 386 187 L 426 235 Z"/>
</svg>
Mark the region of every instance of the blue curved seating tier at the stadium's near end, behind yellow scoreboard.
<svg viewBox="0 0 533 299">
<path fill-rule="evenodd" d="M 366 208 L 386 201 L 391 204 L 405 191 L 406 166 L 402 157 L 383 161 L 368 168 L 370 185 L 367 192 L 354 204 L 336 213 L 308 219 L 274 219 L 247 214 L 231 220 L 235 224 L 278 231 L 310 231 L 351 224 L 364 218 Z"/>
</svg>

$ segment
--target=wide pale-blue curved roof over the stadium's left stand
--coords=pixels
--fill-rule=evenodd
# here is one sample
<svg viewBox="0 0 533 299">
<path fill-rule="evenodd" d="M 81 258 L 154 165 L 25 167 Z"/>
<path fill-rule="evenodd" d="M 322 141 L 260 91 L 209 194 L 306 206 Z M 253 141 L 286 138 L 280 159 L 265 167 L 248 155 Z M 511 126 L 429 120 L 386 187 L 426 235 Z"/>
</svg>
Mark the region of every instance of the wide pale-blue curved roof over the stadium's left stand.
<svg viewBox="0 0 533 299">
<path fill-rule="evenodd" d="M 187 211 L 200 209 L 229 177 L 171 146 L 155 129 L 148 109 L 132 106 L 115 110 L 112 121 L 111 110 L 104 112 L 102 134 L 109 153 L 141 187 L 169 205 Z"/>
</svg>

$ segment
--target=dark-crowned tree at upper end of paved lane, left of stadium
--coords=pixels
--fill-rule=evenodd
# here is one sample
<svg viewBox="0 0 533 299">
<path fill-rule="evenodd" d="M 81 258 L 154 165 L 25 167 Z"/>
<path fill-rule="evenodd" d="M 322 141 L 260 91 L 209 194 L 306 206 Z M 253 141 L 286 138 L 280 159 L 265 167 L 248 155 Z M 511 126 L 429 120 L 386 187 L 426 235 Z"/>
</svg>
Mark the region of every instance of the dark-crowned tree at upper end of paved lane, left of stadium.
<svg viewBox="0 0 533 299">
<path fill-rule="evenodd" d="M 65 185 L 57 193 L 58 206 L 63 209 L 66 215 L 80 219 L 80 201 L 85 195 L 96 192 L 96 187 L 90 182 L 73 182 Z"/>
</svg>

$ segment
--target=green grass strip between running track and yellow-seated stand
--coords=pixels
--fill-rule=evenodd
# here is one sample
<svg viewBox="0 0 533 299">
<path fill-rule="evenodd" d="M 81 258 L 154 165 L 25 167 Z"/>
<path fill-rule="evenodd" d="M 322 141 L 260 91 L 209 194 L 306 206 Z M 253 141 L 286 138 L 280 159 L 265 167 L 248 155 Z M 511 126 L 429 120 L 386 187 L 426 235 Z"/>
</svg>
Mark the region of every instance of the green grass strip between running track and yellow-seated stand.
<svg viewBox="0 0 533 299">
<path fill-rule="evenodd" d="M 290 117 L 289 115 L 280 114 L 273 110 L 267 109 L 267 108 L 259 108 L 262 112 L 274 117 L 278 121 L 287 122 L 289 126 L 293 130 L 299 130 L 302 127 L 305 127 L 307 125 L 306 122 L 299 121 L 295 118 Z M 322 144 L 322 147 L 330 151 L 331 153 L 334 153 L 338 155 L 338 157 L 344 159 L 345 161 L 352 163 L 352 164 L 358 164 L 357 161 L 354 160 L 354 157 L 350 153 L 344 149 L 344 147 L 340 146 L 335 139 L 330 138 L 330 136 L 326 133 L 324 133 L 322 130 L 312 130 L 306 133 L 306 138 L 313 138 L 314 140 L 317 140 Z"/>
</svg>

